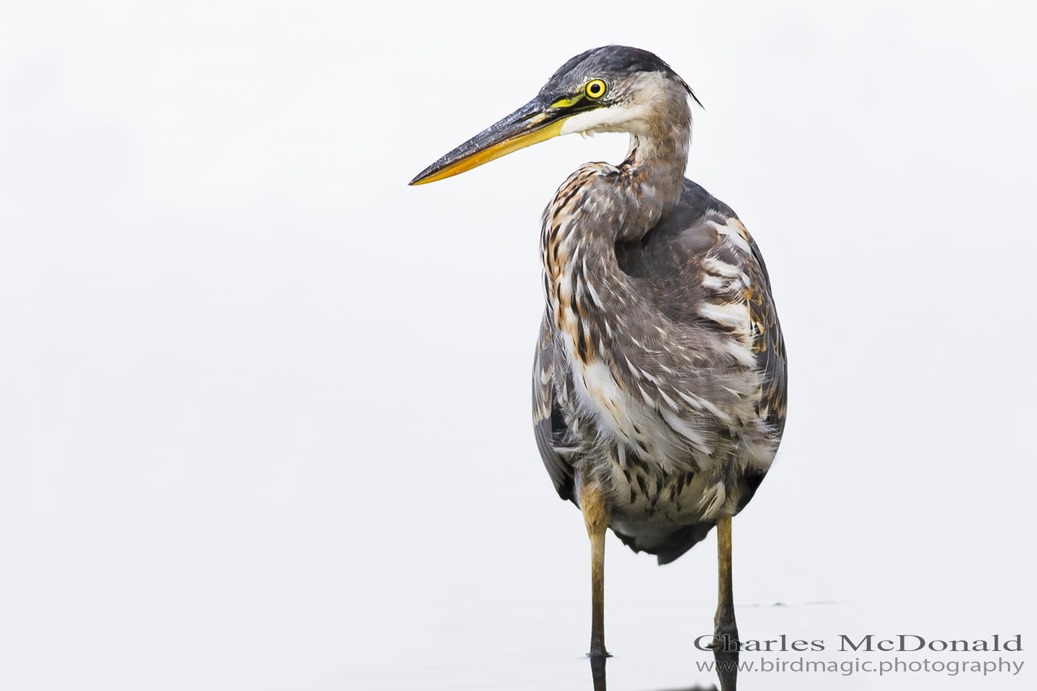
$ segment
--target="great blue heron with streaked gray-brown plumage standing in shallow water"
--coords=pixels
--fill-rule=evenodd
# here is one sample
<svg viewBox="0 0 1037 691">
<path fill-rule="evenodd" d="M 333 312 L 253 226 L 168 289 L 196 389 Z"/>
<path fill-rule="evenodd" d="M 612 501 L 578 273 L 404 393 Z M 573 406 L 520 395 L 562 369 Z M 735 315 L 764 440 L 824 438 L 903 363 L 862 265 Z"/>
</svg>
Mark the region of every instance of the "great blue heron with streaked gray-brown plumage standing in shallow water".
<svg viewBox="0 0 1037 691">
<path fill-rule="evenodd" d="M 565 180 L 540 232 L 534 431 L 555 489 L 590 536 L 592 660 L 608 656 L 606 528 L 668 564 L 714 525 L 714 650 L 736 660 L 731 517 L 785 426 L 785 346 L 763 258 L 734 211 L 684 178 L 693 98 L 652 53 L 596 48 L 411 181 L 558 135 L 630 136 L 621 164 L 586 164 Z M 733 689 L 733 674 L 721 683 Z"/>
</svg>

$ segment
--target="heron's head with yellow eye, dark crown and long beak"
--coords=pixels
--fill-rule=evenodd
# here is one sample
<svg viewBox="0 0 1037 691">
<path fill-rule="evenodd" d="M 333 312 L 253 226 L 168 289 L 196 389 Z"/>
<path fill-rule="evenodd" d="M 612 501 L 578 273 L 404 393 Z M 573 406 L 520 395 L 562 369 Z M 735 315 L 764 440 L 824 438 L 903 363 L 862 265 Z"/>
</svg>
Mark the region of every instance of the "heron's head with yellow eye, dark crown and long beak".
<svg viewBox="0 0 1037 691">
<path fill-rule="evenodd" d="M 628 132 L 658 136 L 690 127 L 691 88 L 654 54 L 604 46 L 570 58 L 536 97 L 419 173 L 411 184 L 435 182 L 521 148 L 571 133 Z"/>
</svg>

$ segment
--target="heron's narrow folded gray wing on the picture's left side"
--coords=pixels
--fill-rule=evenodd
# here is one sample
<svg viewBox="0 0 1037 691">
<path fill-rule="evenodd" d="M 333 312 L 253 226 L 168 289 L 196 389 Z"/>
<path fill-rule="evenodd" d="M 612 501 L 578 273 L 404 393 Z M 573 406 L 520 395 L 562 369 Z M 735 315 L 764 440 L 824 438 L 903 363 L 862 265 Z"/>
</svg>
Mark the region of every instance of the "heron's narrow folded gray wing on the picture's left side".
<svg viewBox="0 0 1037 691">
<path fill-rule="evenodd" d="M 572 466 L 558 453 L 565 443 L 568 428 L 555 392 L 555 346 L 544 315 L 533 361 L 533 433 L 543 465 L 555 491 L 563 499 L 574 501 Z"/>
</svg>

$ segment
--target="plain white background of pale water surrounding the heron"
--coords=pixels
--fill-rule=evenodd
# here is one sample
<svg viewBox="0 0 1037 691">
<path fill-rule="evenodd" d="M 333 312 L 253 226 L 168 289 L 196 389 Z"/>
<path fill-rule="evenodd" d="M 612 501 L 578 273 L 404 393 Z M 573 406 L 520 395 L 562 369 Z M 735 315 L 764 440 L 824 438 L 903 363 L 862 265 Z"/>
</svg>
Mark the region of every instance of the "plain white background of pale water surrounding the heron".
<svg viewBox="0 0 1037 691">
<path fill-rule="evenodd" d="M 0 687 L 590 687 L 586 536 L 528 410 L 538 219 L 625 139 L 405 183 L 609 42 L 705 104 L 689 176 L 785 328 L 742 636 L 1022 634 L 1037 664 L 1033 6 L 486 7 L 4 7 Z M 711 681 L 713 549 L 610 538 L 613 691 Z"/>
</svg>

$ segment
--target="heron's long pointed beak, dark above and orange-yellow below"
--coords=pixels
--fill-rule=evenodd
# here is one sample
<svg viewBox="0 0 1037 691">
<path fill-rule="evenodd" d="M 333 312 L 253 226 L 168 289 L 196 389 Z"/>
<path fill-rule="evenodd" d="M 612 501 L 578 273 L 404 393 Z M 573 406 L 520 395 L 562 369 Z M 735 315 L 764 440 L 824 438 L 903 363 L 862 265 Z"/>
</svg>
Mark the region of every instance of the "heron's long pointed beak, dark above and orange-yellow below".
<svg viewBox="0 0 1037 691">
<path fill-rule="evenodd" d="M 568 106 L 569 104 L 565 104 Z M 562 122 L 578 110 L 537 96 L 500 122 L 489 125 L 425 170 L 410 184 L 435 182 L 472 170 L 494 159 L 562 134 Z"/>
</svg>

